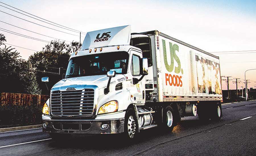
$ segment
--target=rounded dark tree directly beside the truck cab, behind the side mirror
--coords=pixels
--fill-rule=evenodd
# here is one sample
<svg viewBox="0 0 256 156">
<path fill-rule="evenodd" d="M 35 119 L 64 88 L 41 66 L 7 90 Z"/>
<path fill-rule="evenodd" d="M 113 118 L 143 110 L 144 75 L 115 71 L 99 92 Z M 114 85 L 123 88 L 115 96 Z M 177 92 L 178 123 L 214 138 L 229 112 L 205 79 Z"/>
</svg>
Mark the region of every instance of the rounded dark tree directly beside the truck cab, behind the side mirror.
<svg viewBox="0 0 256 156">
<path fill-rule="evenodd" d="M 49 77 L 48 88 L 51 88 L 62 78 L 59 75 L 59 68 L 67 68 L 70 54 L 79 50 L 80 46 L 79 42 L 73 41 L 71 44 L 66 44 L 64 41 L 55 40 L 28 58 L 32 69 L 38 71 L 36 72 L 36 79 L 43 94 L 49 94 L 49 91 L 41 82 L 41 78 Z"/>
</svg>

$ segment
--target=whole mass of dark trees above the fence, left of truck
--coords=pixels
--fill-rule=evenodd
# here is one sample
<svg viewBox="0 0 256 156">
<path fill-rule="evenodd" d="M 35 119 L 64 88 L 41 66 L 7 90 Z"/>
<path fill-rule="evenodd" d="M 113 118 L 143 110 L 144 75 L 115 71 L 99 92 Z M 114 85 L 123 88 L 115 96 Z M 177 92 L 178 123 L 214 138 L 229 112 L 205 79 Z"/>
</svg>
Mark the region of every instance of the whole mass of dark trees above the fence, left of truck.
<svg viewBox="0 0 256 156">
<path fill-rule="evenodd" d="M 41 78 L 49 77 L 51 88 L 63 76 L 59 75 L 59 68 L 65 73 L 70 54 L 80 47 L 79 42 L 51 41 L 26 61 L 5 42 L 5 36 L 0 34 L 0 92 L 13 93 L 49 94 Z"/>
</svg>

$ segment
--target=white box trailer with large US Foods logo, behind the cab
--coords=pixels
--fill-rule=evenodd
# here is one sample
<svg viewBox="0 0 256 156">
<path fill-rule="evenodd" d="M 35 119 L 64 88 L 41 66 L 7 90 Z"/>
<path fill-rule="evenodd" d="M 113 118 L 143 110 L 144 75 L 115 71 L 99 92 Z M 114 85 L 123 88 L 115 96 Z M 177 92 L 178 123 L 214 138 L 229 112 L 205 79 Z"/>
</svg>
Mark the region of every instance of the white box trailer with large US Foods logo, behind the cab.
<svg viewBox="0 0 256 156">
<path fill-rule="evenodd" d="M 151 39 L 153 101 L 222 100 L 218 56 L 157 30 L 140 34 Z M 149 76 L 152 77 L 150 74 L 145 76 L 146 81 L 150 80 L 147 79 Z"/>
</svg>

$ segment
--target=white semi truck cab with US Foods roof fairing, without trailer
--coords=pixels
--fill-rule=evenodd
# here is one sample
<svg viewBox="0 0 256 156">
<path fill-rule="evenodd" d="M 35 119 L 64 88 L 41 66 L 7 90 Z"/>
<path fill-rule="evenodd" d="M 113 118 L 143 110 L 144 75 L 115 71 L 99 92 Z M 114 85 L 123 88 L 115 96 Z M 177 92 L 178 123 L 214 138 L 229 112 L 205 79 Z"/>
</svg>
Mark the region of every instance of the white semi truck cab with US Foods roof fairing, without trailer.
<svg viewBox="0 0 256 156">
<path fill-rule="evenodd" d="M 125 131 L 129 107 L 145 104 L 145 76 L 152 67 L 150 38 L 130 31 L 122 26 L 87 33 L 82 50 L 69 59 L 65 79 L 51 88 L 48 113 L 42 115 L 44 132 L 55 137 Z M 135 122 L 131 125 L 129 130 L 136 130 Z"/>
</svg>

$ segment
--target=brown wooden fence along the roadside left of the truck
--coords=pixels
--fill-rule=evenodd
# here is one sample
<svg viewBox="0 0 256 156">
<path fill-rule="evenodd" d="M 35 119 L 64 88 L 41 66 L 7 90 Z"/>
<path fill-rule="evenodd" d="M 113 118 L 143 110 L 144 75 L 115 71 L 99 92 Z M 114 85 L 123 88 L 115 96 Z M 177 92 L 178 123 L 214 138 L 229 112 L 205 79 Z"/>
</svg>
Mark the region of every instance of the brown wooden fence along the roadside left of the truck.
<svg viewBox="0 0 256 156">
<path fill-rule="evenodd" d="M 38 125 L 48 95 L 0 93 L 0 128 Z"/>
</svg>

